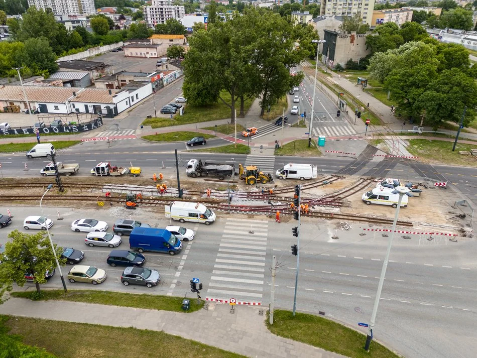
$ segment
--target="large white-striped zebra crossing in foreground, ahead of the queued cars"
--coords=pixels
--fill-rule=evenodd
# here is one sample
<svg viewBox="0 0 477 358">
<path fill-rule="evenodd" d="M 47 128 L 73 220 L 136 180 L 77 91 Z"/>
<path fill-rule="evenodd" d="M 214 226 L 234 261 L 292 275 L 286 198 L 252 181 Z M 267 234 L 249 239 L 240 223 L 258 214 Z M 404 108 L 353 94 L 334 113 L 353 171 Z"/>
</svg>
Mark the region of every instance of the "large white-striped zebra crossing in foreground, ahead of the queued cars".
<svg viewBox="0 0 477 358">
<path fill-rule="evenodd" d="M 261 303 L 268 222 L 227 218 L 207 288 L 208 300 Z"/>
</svg>

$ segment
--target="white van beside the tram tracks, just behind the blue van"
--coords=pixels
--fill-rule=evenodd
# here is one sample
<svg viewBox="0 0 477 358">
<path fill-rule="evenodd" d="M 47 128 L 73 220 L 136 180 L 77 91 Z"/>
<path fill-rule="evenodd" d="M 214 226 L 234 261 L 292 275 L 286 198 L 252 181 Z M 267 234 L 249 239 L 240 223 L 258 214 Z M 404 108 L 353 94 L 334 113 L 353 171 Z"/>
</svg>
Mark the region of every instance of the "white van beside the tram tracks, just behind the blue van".
<svg viewBox="0 0 477 358">
<path fill-rule="evenodd" d="M 203 222 L 206 225 L 215 221 L 215 213 L 204 204 L 189 201 L 174 201 L 165 206 L 166 217 L 180 222 Z"/>
</svg>

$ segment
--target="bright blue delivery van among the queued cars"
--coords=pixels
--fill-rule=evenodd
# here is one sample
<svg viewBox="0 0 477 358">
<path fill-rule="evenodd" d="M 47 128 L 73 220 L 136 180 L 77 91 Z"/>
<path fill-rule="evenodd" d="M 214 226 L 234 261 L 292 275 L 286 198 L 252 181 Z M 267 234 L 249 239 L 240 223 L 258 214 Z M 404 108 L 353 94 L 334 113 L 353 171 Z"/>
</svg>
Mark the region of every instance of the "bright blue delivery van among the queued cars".
<svg viewBox="0 0 477 358">
<path fill-rule="evenodd" d="M 135 227 L 129 236 L 129 247 L 140 253 L 154 251 L 175 255 L 182 250 L 182 243 L 165 229 Z"/>
</svg>

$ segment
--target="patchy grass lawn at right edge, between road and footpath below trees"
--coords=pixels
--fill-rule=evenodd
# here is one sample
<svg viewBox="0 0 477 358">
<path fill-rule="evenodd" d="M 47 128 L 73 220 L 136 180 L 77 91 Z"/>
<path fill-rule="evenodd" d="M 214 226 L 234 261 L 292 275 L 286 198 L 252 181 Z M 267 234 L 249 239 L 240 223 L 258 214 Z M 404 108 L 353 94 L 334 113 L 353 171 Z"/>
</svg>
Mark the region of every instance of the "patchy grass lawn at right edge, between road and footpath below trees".
<svg viewBox="0 0 477 358">
<path fill-rule="evenodd" d="M 472 156 L 459 154 L 459 151 L 469 152 L 471 149 L 477 149 L 477 142 L 475 145 L 457 142 L 454 152 L 452 152 L 452 146 L 453 142 L 410 139 L 407 150 L 421 159 L 437 163 L 477 167 L 477 159 Z"/>
</svg>

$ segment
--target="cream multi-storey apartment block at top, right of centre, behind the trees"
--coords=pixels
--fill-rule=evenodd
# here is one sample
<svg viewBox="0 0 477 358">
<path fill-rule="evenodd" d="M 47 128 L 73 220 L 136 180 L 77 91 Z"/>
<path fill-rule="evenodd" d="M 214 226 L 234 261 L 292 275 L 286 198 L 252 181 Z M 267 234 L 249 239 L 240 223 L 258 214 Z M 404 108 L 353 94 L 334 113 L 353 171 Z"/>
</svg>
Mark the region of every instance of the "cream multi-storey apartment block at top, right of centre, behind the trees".
<svg viewBox="0 0 477 358">
<path fill-rule="evenodd" d="M 364 24 L 371 26 L 374 3 L 375 0 L 321 0 L 320 15 L 353 17 L 358 14 Z"/>
</svg>

